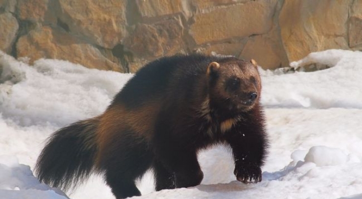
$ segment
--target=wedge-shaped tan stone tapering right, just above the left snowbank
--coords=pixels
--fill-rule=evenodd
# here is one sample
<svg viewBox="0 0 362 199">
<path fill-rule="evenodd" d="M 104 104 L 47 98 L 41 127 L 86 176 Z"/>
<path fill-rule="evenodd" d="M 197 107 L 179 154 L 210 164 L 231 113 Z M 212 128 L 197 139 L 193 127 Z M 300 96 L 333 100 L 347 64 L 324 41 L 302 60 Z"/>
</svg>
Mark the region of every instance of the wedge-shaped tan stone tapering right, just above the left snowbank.
<svg viewBox="0 0 362 199">
<path fill-rule="evenodd" d="M 106 59 L 97 48 L 64 31 L 42 27 L 19 38 L 18 57 L 29 57 L 30 62 L 40 58 L 63 59 L 91 69 L 124 72 L 119 64 Z"/>
</svg>

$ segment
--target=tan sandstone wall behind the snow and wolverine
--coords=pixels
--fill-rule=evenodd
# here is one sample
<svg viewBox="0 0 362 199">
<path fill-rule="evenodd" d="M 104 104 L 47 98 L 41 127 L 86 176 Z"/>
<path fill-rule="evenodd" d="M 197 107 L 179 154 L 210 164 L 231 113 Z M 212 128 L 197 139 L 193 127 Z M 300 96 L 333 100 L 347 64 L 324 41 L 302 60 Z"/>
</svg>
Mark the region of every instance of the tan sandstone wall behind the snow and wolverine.
<svg viewBox="0 0 362 199">
<path fill-rule="evenodd" d="M 310 52 L 362 49 L 357 0 L 0 0 L 0 49 L 135 72 L 176 53 L 287 67 Z"/>
</svg>

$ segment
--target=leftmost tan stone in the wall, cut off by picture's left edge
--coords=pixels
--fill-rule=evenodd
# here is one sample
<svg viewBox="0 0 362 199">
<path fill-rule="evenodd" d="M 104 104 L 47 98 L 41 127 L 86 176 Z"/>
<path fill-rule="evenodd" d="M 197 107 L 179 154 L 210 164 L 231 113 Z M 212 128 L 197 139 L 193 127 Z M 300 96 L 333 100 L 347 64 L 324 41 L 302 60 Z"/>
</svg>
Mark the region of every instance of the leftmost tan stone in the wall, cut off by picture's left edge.
<svg viewBox="0 0 362 199">
<path fill-rule="evenodd" d="M 0 27 L 0 50 L 10 53 L 19 25 L 11 13 L 3 13 L 0 14 Z"/>
</svg>

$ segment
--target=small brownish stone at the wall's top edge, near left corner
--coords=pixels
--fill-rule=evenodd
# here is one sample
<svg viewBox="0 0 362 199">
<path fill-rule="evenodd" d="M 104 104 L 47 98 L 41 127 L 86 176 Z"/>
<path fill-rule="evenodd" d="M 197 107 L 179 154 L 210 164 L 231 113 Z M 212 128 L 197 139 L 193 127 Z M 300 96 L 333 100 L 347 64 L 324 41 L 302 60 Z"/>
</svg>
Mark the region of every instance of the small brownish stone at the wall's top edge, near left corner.
<svg viewBox="0 0 362 199">
<path fill-rule="evenodd" d="M 48 0 L 17 0 L 18 16 L 22 20 L 43 21 L 48 10 Z"/>
</svg>

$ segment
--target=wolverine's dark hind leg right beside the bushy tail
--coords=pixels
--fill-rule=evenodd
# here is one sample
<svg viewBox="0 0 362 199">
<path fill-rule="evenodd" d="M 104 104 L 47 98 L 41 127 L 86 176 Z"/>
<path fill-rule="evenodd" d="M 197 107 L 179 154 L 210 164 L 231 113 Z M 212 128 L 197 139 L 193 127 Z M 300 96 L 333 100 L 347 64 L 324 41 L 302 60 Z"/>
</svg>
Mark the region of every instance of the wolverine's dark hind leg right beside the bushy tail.
<svg viewBox="0 0 362 199">
<path fill-rule="evenodd" d="M 102 157 L 105 180 L 116 198 L 141 195 L 135 180 L 149 169 L 152 156 L 147 143 L 130 131 L 112 140 Z"/>
</svg>

